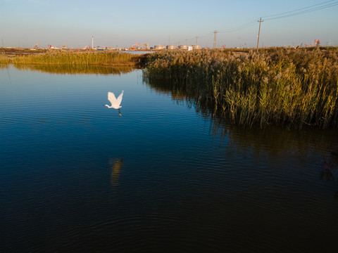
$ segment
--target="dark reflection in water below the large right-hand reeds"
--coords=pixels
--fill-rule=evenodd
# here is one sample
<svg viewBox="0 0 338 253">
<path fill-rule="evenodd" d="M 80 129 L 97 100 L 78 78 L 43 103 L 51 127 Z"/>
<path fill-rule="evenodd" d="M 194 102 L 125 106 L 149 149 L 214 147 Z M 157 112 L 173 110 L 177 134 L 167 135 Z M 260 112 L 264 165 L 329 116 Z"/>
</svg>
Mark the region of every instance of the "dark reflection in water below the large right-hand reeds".
<svg viewBox="0 0 338 253">
<path fill-rule="evenodd" d="M 319 163 L 321 164 L 318 165 L 320 179 L 337 183 L 338 190 L 338 134 L 335 129 L 322 131 L 311 127 L 304 127 L 303 130 L 278 126 L 268 126 L 263 129 L 260 126 L 241 127 L 233 124 L 224 110 L 218 108 L 212 99 L 201 100 L 194 96 L 194 93 L 177 89 L 177 86 L 168 82 L 168 79 L 144 78 L 144 82 L 157 93 L 171 96 L 176 103 L 194 108 L 201 118 L 210 122 L 210 131 L 214 136 L 227 138 L 227 153 L 252 150 L 253 155 L 259 159 L 264 150 L 264 153 L 268 152 L 268 157 L 283 157 L 282 160 L 275 162 L 281 167 L 287 166 L 286 164 L 289 163 L 287 157 L 292 156 L 301 158 L 304 167 L 311 162 Z M 313 160 L 313 157 L 318 157 L 318 153 L 322 153 L 322 150 L 327 152 Z"/>
</svg>

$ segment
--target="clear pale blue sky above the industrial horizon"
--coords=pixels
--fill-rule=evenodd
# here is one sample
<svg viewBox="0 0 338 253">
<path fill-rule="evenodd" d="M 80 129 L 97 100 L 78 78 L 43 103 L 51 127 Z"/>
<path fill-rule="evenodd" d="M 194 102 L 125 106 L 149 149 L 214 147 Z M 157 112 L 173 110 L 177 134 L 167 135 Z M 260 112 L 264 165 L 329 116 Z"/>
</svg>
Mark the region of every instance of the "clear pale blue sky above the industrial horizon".
<svg viewBox="0 0 338 253">
<path fill-rule="evenodd" d="M 83 47 L 130 46 L 135 43 L 197 44 L 213 46 L 254 47 L 261 23 L 260 46 L 311 44 L 320 39 L 322 45 L 338 45 L 337 4 L 322 8 L 325 0 L 297 1 L 49 1 L 0 0 L 0 46 Z M 320 4 L 318 6 L 314 6 Z M 278 18 L 275 14 L 319 8 L 300 15 Z M 275 15 L 269 19 L 268 16 Z M 245 25 L 248 24 L 248 25 Z M 245 29 L 233 28 L 245 25 Z"/>
</svg>

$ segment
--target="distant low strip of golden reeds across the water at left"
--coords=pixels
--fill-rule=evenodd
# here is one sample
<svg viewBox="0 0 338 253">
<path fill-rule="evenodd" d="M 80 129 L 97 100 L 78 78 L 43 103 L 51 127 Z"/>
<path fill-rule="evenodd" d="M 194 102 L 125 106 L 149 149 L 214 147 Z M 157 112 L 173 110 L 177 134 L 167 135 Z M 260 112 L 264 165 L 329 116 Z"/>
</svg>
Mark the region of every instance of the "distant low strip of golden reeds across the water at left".
<svg viewBox="0 0 338 253">
<path fill-rule="evenodd" d="M 48 52 L 15 56 L 13 64 L 44 65 L 135 65 L 139 59 L 130 53 L 118 52 Z"/>
</svg>

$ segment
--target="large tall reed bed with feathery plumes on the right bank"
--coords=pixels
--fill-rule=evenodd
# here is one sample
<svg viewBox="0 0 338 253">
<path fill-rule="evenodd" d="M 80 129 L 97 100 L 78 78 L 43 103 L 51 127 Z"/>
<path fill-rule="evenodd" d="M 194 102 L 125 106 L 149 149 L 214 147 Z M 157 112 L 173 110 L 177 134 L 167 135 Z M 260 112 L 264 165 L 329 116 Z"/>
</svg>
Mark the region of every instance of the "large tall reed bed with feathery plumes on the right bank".
<svg viewBox="0 0 338 253">
<path fill-rule="evenodd" d="M 338 126 L 338 51 L 273 48 L 162 51 L 146 56 L 144 79 L 166 80 L 196 103 L 213 101 L 232 122 L 301 129 Z"/>
</svg>

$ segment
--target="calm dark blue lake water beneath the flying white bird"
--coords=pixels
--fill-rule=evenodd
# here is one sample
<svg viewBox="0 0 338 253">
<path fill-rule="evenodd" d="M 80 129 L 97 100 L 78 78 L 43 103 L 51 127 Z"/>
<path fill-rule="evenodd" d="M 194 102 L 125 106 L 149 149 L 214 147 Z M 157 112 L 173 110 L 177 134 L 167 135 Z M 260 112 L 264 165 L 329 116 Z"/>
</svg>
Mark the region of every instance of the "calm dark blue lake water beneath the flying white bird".
<svg viewBox="0 0 338 253">
<path fill-rule="evenodd" d="M 1 252 L 337 250 L 337 131 L 220 123 L 118 73 L 0 68 Z"/>
</svg>

